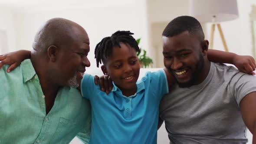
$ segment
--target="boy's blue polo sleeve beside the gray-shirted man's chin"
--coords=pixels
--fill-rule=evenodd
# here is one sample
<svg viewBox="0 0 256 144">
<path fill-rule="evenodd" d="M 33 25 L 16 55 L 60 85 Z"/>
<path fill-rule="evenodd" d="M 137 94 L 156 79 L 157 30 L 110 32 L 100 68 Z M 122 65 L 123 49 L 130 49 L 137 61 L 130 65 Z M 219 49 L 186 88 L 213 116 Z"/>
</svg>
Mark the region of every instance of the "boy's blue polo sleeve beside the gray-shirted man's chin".
<svg viewBox="0 0 256 144">
<path fill-rule="evenodd" d="M 169 92 L 167 77 L 163 69 L 157 72 L 147 72 L 145 77 L 142 78 L 149 81 L 149 87 L 152 88 L 154 95 L 162 98 L 164 94 Z"/>
</svg>

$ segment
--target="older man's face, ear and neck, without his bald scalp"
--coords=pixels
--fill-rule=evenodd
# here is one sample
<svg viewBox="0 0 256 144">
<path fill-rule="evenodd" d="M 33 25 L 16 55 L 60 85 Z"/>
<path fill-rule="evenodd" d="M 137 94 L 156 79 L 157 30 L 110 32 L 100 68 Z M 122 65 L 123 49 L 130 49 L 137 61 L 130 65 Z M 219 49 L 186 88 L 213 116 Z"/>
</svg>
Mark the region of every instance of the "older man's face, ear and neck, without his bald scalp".
<svg viewBox="0 0 256 144">
<path fill-rule="evenodd" d="M 77 30 L 73 31 L 75 34 L 72 39 L 77 39 L 77 41 L 72 43 L 69 49 L 50 46 L 47 51 L 48 65 L 40 65 L 39 63 L 42 63 L 40 61 L 34 66 L 45 95 L 46 114 L 53 108 L 59 88 L 68 85 L 67 81 L 73 75 L 85 72 L 85 67 L 90 66 L 90 62 L 87 59 L 89 37 L 82 27 L 75 26 L 74 29 Z M 31 57 L 32 60 L 33 55 Z M 46 69 L 46 71 L 42 70 L 42 68 Z M 81 81 L 81 78 L 79 81 Z M 77 83 L 79 84 L 79 82 Z"/>
</svg>

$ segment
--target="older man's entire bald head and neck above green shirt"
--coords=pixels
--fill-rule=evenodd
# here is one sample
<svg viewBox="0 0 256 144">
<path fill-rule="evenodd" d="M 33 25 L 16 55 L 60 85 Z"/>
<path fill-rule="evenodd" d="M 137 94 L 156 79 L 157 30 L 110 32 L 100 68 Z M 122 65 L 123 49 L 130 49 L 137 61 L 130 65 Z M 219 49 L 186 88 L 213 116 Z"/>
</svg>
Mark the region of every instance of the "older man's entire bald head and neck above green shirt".
<svg viewBox="0 0 256 144">
<path fill-rule="evenodd" d="M 59 22 L 66 26 L 59 26 Z M 35 36 L 31 53 L 20 51 L 20 57 L 14 60 L 18 59 L 19 65 L 20 58 L 26 59 L 31 56 L 31 62 L 45 95 L 48 114 L 53 108 L 59 88 L 79 86 L 81 74 L 85 72 L 85 67 L 90 66 L 87 59 L 90 50 L 89 37 L 77 23 L 61 18 L 47 21 L 45 26 L 39 29 L 39 33 Z M 44 37 L 44 34 L 47 36 Z"/>
</svg>

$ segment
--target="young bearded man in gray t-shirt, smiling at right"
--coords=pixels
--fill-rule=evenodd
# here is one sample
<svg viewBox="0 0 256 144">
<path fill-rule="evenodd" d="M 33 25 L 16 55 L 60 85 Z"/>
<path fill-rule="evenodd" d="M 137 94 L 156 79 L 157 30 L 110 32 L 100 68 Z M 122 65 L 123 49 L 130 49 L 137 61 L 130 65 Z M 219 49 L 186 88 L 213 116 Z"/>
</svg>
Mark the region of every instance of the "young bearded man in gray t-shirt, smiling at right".
<svg viewBox="0 0 256 144">
<path fill-rule="evenodd" d="M 208 44 L 193 17 L 164 29 L 164 66 L 177 81 L 159 106 L 170 143 L 246 144 L 247 126 L 256 144 L 256 77 L 210 62 Z"/>
</svg>

